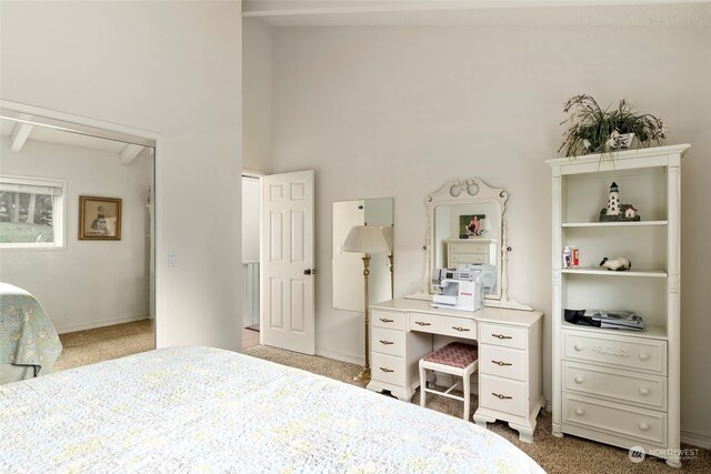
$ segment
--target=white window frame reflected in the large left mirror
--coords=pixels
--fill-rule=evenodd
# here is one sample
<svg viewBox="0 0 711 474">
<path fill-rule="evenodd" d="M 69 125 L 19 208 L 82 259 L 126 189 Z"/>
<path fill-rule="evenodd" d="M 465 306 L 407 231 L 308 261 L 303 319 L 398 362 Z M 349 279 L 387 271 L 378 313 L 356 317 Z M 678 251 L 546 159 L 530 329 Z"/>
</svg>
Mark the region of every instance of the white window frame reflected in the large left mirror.
<svg viewBox="0 0 711 474">
<path fill-rule="evenodd" d="M 67 180 L 60 178 L 40 178 L 21 174 L 0 173 L 0 182 L 61 188 L 61 195 L 52 202 L 52 242 L 0 242 L 1 250 L 64 250 L 67 249 Z M 58 212 L 59 211 L 59 212 Z M 57 216 L 60 219 L 57 219 Z"/>
</svg>

